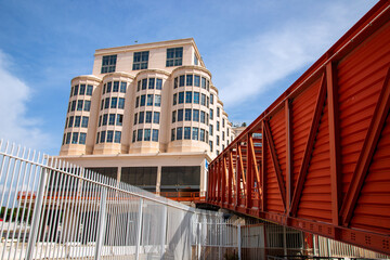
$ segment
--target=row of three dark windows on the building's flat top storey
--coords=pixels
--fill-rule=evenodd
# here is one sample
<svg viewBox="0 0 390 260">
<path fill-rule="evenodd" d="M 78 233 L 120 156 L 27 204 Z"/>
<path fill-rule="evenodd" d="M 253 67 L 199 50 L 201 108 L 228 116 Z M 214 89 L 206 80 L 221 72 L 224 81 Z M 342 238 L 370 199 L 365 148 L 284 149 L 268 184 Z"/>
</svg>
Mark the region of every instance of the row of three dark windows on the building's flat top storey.
<svg viewBox="0 0 390 260">
<path fill-rule="evenodd" d="M 147 69 L 150 60 L 150 52 L 134 52 L 133 54 L 133 70 Z M 116 69 L 117 54 L 105 55 L 102 58 L 101 74 L 114 73 Z M 166 66 L 181 66 L 183 64 L 183 48 L 169 48 L 167 49 Z"/>
</svg>

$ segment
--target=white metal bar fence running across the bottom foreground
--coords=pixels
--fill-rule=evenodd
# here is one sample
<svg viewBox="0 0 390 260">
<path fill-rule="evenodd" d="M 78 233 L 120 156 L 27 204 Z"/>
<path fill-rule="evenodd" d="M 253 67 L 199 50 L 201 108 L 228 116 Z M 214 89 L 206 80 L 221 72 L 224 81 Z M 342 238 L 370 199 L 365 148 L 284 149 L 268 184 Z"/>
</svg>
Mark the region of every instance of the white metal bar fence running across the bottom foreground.
<svg viewBox="0 0 390 260">
<path fill-rule="evenodd" d="M 198 210 L 0 141 L 0 260 L 385 258 L 266 222 Z M 368 255 L 367 255 L 368 253 Z"/>
</svg>

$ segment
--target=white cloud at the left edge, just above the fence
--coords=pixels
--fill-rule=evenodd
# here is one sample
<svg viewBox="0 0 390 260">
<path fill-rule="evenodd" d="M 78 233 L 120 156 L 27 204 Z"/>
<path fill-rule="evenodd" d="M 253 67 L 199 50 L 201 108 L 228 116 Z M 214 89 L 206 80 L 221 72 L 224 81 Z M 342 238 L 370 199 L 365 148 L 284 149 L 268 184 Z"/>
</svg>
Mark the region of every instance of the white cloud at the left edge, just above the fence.
<svg viewBox="0 0 390 260">
<path fill-rule="evenodd" d="M 9 66 L 10 60 L 0 50 L 0 139 L 37 150 L 50 147 L 52 140 L 41 129 L 41 121 L 26 115 L 31 89 L 12 75 Z"/>
</svg>

